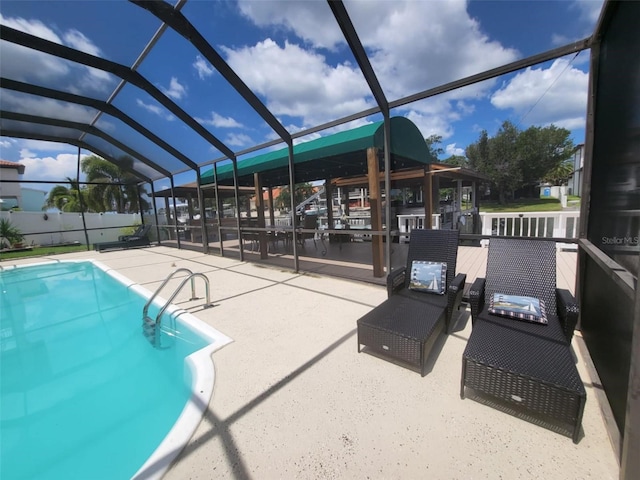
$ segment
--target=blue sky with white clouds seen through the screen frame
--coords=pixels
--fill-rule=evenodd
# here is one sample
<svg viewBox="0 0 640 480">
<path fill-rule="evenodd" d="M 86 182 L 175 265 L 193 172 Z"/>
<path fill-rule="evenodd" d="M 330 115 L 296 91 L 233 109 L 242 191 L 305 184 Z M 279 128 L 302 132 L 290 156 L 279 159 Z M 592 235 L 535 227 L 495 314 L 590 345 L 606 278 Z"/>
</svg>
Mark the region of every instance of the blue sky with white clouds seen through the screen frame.
<svg viewBox="0 0 640 480">
<path fill-rule="evenodd" d="M 600 0 L 344 3 L 388 100 L 585 38 L 593 32 L 602 6 Z M 375 105 L 326 2 L 189 0 L 182 13 L 291 132 Z M 149 12 L 120 1 L 3 0 L 0 15 L 5 25 L 127 66 L 160 25 Z M 118 84 L 111 75 L 4 41 L 0 55 L 2 76 L 16 80 L 100 99 L 107 99 Z M 492 135 L 504 120 L 521 128 L 553 123 L 569 129 L 574 143 L 583 143 L 588 55 L 557 59 L 423 100 L 392 115 L 408 117 L 425 137 L 441 135 L 443 158 L 463 154 L 481 130 Z M 276 138 L 221 75 L 171 30 L 139 70 L 234 151 Z M 35 100 L 11 92 L 0 97 L 7 110 L 19 111 L 25 101 Z M 133 86 L 125 86 L 114 104 L 197 163 L 221 156 Z M 53 102 L 43 102 L 42 111 L 84 121 L 95 114 Z M 369 117 L 336 130 L 377 120 Z M 97 125 L 134 141 L 128 127 L 113 118 L 103 117 Z M 139 148 L 150 158 L 166 157 L 153 145 Z M 76 147 L 0 138 L 0 157 L 25 164 L 25 179 L 75 177 L 76 155 Z M 193 179 L 187 173 L 176 183 Z M 167 185 L 156 182 L 156 188 Z"/>
</svg>

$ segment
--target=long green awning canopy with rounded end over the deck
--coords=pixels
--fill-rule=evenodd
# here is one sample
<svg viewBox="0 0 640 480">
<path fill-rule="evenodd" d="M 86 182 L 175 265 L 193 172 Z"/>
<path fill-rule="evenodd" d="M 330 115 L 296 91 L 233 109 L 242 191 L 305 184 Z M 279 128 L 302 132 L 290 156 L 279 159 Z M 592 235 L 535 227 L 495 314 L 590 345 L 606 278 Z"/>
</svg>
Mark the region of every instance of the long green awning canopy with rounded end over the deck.
<svg viewBox="0 0 640 480">
<path fill-rule="evenodd" d="M 404 117 L 391 122 L 391 169 L 416 167 L 435 162 L 418 127 Z M 350 177 L 367 173 L 367 149 L 384 147 L 384 125 L 376 122 L 294 145 L 295 183 Z M 379 157 L 379 168 L 384 159 Z M 264 153 L 238 161 L 240 186 L 252 186 L 254 173 L 262 174 L 264 186 L 289 184 L 288 149 Z M 217 167 L 219 185 L 233 185 L 231 163 Z M 213 169 L 201 176 L 202 184 L 213 183 Z"/>
</svg>

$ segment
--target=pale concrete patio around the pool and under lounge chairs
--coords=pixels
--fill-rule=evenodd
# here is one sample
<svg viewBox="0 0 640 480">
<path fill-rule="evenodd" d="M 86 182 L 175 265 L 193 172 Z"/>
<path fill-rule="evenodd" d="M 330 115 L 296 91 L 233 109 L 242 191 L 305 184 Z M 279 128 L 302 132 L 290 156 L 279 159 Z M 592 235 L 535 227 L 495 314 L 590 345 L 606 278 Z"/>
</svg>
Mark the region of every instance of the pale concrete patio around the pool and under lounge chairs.
<svg viewBox="0 0 640 480">
<path fill-rule="evenodd" d="M 473 278 L 483 249 L 460 248 L 458 270 Z M 575 277 L 575 253 L 569 255 Z M 576 445 L 460 399 L 468 310 L 436 344 L 421 377 L 357 353 L 356 320 L 386 298 L 381 285 L 168 247 L 55 258 L 96 259 L 150 291 L 179 267 L 210 279 L 214 308 L 188 302 L 187 289 L 176 303 L 234 342 L 212 356 L 213 396 L 166 479 L 618 478 L 601 412 L 606 405 L 598 401 L 600 387 L 579 334 L 573 349 L 587 403 Z M 573 290 L 570 257 L 563 262 L 559 284 Z"/>
</svg>

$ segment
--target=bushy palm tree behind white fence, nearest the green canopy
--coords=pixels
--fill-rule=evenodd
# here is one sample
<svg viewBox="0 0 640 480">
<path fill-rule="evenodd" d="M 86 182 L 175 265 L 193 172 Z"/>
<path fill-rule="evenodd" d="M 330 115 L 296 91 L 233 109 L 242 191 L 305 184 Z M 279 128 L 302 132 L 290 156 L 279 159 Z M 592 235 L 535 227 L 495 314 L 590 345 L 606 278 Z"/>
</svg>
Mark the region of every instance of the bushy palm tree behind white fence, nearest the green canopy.
<svg viewBox="0 0 640 480">
<path fill-rule="evenodd" d="M 123 166 L 133 166 L 133 159 L 123 156 L 119 159 Z M 87 182 L 96 182 L 88 188 L 88 200 L 91 206 L 100 212 L 115 210 L 118 213 L 139 212 L 149 208 L 143 200 L 138 201 L 138 179 L 125 168 L 105 160 L 97 155 L 85 157 L 81 163 Z"/>
</svg>

